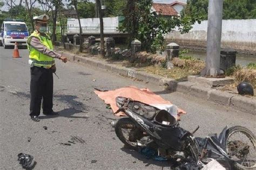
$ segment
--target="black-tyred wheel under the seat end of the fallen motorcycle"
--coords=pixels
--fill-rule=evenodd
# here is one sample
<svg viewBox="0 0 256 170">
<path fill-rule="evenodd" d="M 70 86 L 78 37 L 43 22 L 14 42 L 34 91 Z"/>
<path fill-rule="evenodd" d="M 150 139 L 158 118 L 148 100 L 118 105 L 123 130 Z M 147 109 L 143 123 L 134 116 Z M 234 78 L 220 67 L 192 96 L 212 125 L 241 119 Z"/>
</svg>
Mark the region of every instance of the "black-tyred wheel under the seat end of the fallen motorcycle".
<svg viewBox="0 0 256 170">
<path fill-rule="evenodd" d="M 143 132 L 128 117 L 120 118 L 114 131 L 116 131 L 117 137 L 133 150 L 137 149 L 137 139 L 143 136 Z"/>
</svg>

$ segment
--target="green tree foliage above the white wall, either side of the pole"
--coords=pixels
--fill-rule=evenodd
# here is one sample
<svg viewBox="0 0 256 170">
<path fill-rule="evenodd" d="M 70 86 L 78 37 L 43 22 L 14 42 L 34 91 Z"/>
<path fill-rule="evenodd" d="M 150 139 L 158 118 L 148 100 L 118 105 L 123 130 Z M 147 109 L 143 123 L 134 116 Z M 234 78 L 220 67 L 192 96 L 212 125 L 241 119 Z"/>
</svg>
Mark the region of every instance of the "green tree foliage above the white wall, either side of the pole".
<svg viewBox="0 0 256 170">
<path fill-rule="evenodd" d="M 181 16 L 203 16 L 207 20 L 208 0 L 188 0 Z M 255 0 L 224 0 L 223 19 L 256 18 Z"/>
</svg>

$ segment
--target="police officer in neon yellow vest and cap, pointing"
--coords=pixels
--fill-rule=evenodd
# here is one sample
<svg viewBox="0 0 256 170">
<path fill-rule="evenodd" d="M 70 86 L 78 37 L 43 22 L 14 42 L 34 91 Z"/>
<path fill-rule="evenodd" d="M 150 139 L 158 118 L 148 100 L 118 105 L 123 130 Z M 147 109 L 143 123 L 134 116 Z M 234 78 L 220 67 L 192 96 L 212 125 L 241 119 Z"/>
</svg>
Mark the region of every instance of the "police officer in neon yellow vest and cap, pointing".
<svg viewBox="0 0 256 170">
<path fill-rule="evenodd" d="M 30 64 L 30 117 L 38 122 L 42 103 L 44 115 L 58 115 L 52 110 L 53 76 L 55 58 L 66 62 L 68 59 L 53 51 L 51 38 L 46 33 L 49 16 L 33 17 L 35 31 L 28 38 Z"/>
</svg>

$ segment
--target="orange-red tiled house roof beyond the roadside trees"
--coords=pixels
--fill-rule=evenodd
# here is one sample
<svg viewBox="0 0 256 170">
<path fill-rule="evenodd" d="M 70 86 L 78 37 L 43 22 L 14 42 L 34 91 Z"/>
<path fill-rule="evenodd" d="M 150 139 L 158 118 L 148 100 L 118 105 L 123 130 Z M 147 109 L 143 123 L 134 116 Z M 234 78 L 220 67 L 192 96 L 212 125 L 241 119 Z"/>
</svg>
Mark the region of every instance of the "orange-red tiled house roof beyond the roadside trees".
<svg viewBox="0 0 256 170">
<path fill-rule="evenodd" d="M 162 16 L 178 16 L 178 12 L 170 4 L 153 3 L 153 8 Z"/>
</svg>

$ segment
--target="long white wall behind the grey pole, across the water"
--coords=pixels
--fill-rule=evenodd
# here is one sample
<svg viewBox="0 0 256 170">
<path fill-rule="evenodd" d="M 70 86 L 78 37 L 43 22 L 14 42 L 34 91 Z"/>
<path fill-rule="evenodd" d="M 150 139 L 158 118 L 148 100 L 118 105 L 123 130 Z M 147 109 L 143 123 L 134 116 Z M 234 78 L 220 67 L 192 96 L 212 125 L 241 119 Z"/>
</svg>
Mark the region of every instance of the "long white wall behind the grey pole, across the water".
<svg viewBox="0 0 256 170">
<path fill-rule="evenodd" d="M 173 31 L 165 36 L 166 39 L 183 40 L 188 44 L 193 41 L 207 40 L 207 20 L 201 24 L 194 24 L 193 29 L 185 34 L 179 31 Z M 256 47 L 256 19 L 228 19 L 223 20 L 222 25 L 222 44 L 231 44 L 234 46 L 248 46 L 248 48 Z"/>
</svg>

